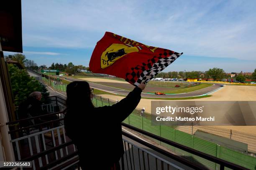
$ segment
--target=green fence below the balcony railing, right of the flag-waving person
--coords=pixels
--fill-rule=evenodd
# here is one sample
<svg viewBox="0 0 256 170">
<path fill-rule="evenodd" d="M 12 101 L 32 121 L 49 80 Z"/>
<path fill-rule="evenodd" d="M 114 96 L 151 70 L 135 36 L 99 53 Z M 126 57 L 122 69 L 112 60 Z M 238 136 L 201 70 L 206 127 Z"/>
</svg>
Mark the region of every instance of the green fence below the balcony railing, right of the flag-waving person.
<svg viewBox="0 0 256 170">
<path fill-rule="evenodd" d="M 235 163 L 237 165 L 241 165 L 245 168 L 256 170 L 256 158 L 250 155 L 245 155 L 243 153 L 239 153 L 237 151 L 231 150 L 224 146 L 217 145 L 207 140 L 203 140 L 195 137 L 194 135 L 190 135 L 188 133 L 184 133 L 182 131 L 176 130 L 171 127 L 167 127 L 165 125 L 151 125 L 151 119 L 140 116 L 136 113 L 132 113 L 129 115 L 124 121 L 124 123 L 134 126 L 136 128 L 140 128 L 141 130 L 145 130 L 149 133 L 153 133 L 155 135 L 161 136 L 168 140 L 174 141 L 176 143 L 182 144 L 189 148 L 194 148 L 203 153 L 215 156 L 217 158 L 221 158 L 223 160 L 227 160 L 231 163 Z M 149 137 L 147 137 L 149 138 Z M 212 161 L 206 160 L 204 158 L 198 157 L 191 153 L 188 153 L 184 150 L 180 150 L 179 148 L 175 148 L 171 145 L 167 145 L 166 143 L 162 143 L 155 139 L 154 142 L 158 143 L 161 146 L 164 146 L 174 152 L 176 155 L 182 156 L 187 160 L 190 160 L 194 163 L 201 164 L 205 168 L 211 170 L 219 170 L 220 166 Z M 225 168 L 225 170 L 229 170 L 229 168 Z"/>
</svg>

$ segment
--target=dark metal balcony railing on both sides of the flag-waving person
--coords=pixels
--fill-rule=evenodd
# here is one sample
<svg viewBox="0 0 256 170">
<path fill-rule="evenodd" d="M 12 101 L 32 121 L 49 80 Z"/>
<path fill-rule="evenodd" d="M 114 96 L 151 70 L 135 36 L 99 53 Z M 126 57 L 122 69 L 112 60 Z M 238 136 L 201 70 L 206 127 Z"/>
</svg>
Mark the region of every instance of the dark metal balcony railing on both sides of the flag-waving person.
<svg viewBox="0 0 256 170">
<path fill-rule="evenodd" d="M 224 170 L 224 167 L 232 168 L 235 170 L 248 170 L 247 168 L 243 168 L 241 166 L 235 165 L 233 163 L 229 163 L 225 160 L 221 160 L 219 158 L 213 157 L 211 155 L 207 155 L 200 151 L 194 150 L 192 148 L 186 147 L 184 145 L 180 145 L 178 143 L 172 142 L 170 140 L 166 140 L 154 134 L 148 133 L 144 130 L 140 130 L 138 128 L 134 128 L 130 125 L 122 123 L 122 125 L 126 128 L 136 131 L 137 133 L 141 133 L 150 138 L 154 138 L 166 144 L 172 145 L 176 148 L 182 149 L 186 152 L 192 153 L 194 155 L 200 156 L 201 158 L 205 158 L 212 162 L 218 163 L 220 165 L 220 170 Z M 178 155 L 174 155 L 164 149 L 159 148 L 156 145 L 152 145 L 151 143 L 146 142 L 145 140 L 141 140 L 133 135 L 125 133 L 122 134 L 127 137 L 129 140 L 123 138 L 123 144 L 125 148 L 125 154 L 121 158 L 121 167 L 123 170 L 165 170 L 168 168 L 176 168 L 179 170 L 183 170 L 184 168 L 176 165 L 159 155 L 156 155 L 146 149 L 144 147 L 150 148 L 157 153 L 164 155 L 168 158 L 172 158 L 172 160 L 176 160 L 177 162 L 187 165 L 190 168 L 197 170 L 205 170 L 206 167 L 203 167 L 200 164 L 192 163 L 189 160 L 182 158 Z M 130 140 L 134 140 L 137 143 L 143 145 L 144 147 L 139 147 L 138 145 L 132 143 Z M 48 169 L 56 166 L 56 164 L 62 164 L 63 162 L 71 159 L 73 162 L 77 162 L 77 150 L 73 145 L 72 141 L 68 139 L 65 134 L 64 126 L 59 126 L 56 128 L 51 128 L 49 130 L 44 130 L 38 133 L 34 133 L 31 135 L 27 135 L 24 137 L 16 138 L 10 141 L 14 145 L 14 150 L 17 154 L 19 161 L 32 161 L 33 169 Z M 49 145 L 51 143 L 51 145 Z M 22 145 L 22 147 L 20 147 Z M 72 146 L 72 147 L 70 147 Z M 24 152 L 25 150 L 25 152 Z M 76 161 L 74 161 L 76 160 Z M 75 163 L 74 163 L 75 164 Z"/>
</svg>

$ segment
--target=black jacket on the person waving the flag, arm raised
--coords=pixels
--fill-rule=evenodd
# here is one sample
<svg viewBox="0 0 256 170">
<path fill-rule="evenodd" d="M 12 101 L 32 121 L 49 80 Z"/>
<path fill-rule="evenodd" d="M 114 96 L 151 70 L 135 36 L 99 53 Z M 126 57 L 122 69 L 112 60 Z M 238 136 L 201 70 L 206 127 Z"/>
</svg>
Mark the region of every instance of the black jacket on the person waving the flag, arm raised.
<svg viewBox="0 0 256 170">
<path fill-rule="evenodd" d="M 104 170 L 120 160 L 124 153 L 121 122 L 133 112 L 140 100 L 141 89 L 135 87 L 127 97 L 112 106 L 88 109 L 84 105 L 84 109 L 67 110 L 65 130 L 77 146 L 83 170 L 91 167 Z"/>
</svg>

